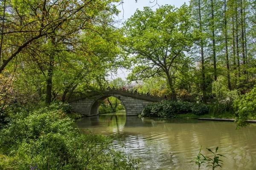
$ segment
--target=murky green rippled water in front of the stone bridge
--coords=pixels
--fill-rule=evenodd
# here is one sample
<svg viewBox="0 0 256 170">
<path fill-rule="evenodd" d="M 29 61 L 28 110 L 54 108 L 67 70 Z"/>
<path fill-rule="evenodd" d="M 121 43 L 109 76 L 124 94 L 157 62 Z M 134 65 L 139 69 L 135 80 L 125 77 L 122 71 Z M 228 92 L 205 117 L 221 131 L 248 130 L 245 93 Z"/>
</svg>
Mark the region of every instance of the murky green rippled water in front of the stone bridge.
<svg viewBox="0 0 256 170">
<path fill-rule="evenodd" d="M 218 153 L 227 157 L 221 157 L 224 165 L 217 169 L 256 170 L 256 124 L 236 130 L 233 122 L 139 118 L 122 111 L 76 123 L 85 133 L 122 136 L 124 151 L 141 160 L 141 170 L 196 170 L 191 161 L 201 146 L 204 156 L 212 158 L 206 147 L 215 150 L 218 146 Z"/>
</svg>

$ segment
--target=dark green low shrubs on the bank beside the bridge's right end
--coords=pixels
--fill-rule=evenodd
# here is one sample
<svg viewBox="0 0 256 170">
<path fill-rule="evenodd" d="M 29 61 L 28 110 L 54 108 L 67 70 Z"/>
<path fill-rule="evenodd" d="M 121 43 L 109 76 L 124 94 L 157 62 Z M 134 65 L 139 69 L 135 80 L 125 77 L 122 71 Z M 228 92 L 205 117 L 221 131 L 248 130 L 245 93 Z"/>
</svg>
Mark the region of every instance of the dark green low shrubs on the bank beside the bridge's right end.
<svg viewBox="0 0 256 170">
<path fill-rule="evenodd" d="M 175 102 L 163 100 L 157 103 L 148 104 L 141 116 L 149 117 L 176 117 L 177 114 L 193 113 L 203 115 L 208 113 L 208 108 L 204 104 L 190 102 Z"/>
</svg>

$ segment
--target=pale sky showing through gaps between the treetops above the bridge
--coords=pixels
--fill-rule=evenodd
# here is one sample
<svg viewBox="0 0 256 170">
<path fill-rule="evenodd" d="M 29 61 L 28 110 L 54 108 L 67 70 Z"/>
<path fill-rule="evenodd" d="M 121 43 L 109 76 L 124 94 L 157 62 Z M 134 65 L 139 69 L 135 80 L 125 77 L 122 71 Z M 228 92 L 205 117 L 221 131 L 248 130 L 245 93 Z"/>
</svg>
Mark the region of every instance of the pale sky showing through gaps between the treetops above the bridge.
<svg viewBox="0 0 256 170">
<path fill-rule="evenodd" d="M 119 24 L 117 24 L 117 27 L 121 27 L 122 22 L 131 17 L 137 8 L 142 11 L 144 6 L 149 6 L 155 10 L 159 6 L 166 4 L 173 5 L 175 7 L 180 7 L 184 3 L 189 5 L 189 0 L 137 0 L 137 3 L 135 0 L 123 0 L 123 2 L 124 3 L 122 5 L 117 6 L 117 8 L 121 11 L 119 16 L 115 17 L 116 20 L 120 21 L 118 22 Z M 117 77 L 121 77 L 125 80 L 128 74 L 129 71 L 120 68 L 118 69 L 117 74 L 112 74 L 112 77 L 109 76 L 108 79 L 116 79 Z"/>
</svg>

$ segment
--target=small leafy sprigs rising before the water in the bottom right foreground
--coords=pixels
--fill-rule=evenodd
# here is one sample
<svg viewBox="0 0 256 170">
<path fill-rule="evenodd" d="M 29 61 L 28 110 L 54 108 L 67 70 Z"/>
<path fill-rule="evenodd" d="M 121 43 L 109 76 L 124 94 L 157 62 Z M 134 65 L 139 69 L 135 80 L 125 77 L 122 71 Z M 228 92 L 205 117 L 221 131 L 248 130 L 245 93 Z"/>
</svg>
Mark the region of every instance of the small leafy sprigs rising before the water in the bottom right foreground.
<svg viewBox="0 0 256 170">
<path fill-rule="evenodd" d="M 222 167 L 223 163 L 222 160 L 219 159 L 220 156 L 222 157 L 226 157 L 226 156 L 223 156 L 221 154 L 217 154 L 218 152 L 218 147 L 216 147 L 215 149 L 215 152 L 212 152 L 211 149 L 208 149 L 206 148 L 209 152 L 213 153 L 214 154 L 214 157 L 213 158 L 209 158 L 207 156 L 204 156 L 202 153 L 201 153 L 201 149 L 202 149 L 202 146 L 200 148 L 200 151 L 198 153 L 198 156 L 195 159 L 195 164 L 198 165 L 198 170 L 200 170 L 200 167 L 202 165 L 205 165 L 204 163 L 208 164 L 206 167 L 211 167 L 212 170 L 215 170 L 217 167 Z"/>
</svg>

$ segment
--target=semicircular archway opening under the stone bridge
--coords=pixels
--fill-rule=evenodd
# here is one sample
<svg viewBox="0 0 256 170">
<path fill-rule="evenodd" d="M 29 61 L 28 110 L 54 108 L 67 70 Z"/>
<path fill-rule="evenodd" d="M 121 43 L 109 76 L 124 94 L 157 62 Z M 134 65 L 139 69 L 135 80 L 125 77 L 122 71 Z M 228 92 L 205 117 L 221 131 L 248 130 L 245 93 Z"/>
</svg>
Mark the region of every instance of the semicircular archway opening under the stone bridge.
<svg viewBox="0 0 256 170">
<path fill-rule="evenodd" d="M 113 101 L 113 99 L 115 99 L 115 100 Z M 111 102 L 111 104 L 109 102 Z M 120 99 L 120 97 L 112 96 L 112 95 L 106 95 L 106 96 L 102 96 L 102 97 L 96 99 L 96 101 L 92 103 L 92 105 L 90 107 L 90 115 L 99 114 L 99 111 L 102 112 L 102 109 L 100 110 L 100 106 L 104 106 L 104 105 L 107 108 L 106 111 L 111 111 L 111 110 L 113 111 L 113 109 L 116 109 L 117 107 L 122 105 L 124 107 L 125 113 L 127 113 L 126 112 L 127 109 L 125 107 L 125 104 Z M 111 107 L 111 105 L 112 105 L 112 107 Z M 103 107 L 101 107 L 101 108 L 103 108 Z M 108 113 L 110 113 L 110 112 L 108 112 Z M 103 114 L 103 113 L 101 113 L 101 114 Z"/>
</svg>

